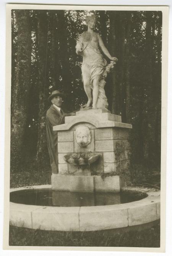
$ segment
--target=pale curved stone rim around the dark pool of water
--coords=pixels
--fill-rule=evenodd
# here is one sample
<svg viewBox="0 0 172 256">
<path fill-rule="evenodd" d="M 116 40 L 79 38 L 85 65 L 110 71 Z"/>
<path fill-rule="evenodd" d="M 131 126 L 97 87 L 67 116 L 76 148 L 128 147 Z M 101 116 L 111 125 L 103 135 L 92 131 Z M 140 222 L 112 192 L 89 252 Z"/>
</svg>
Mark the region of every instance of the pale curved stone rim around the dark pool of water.
<svg viewBox="0 0 172 256">
<path fill-rule="evenodd" d="M 12 188 L 10 192 L 26 189 L 51 189 L 51 185 Z M 56 231 L 96 231 L 144 225 L 160 219 L 160 191 L 141 187 L 122 190 L 145 192 L 148 197 L 123 204 L 53 207 L 10 202 L 11 225 Z"/>
</svg>

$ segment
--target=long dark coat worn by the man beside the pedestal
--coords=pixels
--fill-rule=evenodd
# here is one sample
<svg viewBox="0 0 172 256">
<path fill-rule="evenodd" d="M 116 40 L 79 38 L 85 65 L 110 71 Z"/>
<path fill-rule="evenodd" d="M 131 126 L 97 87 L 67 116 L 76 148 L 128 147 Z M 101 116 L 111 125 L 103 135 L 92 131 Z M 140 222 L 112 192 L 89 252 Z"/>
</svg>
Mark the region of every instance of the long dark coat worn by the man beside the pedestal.
<svg viewBox="0 0 172 256">
<path fill-rule="evenodd" d="M 53 126 L 65 123 L 67 116 L 62 108 L 60 111 L 52 105 L 46 113 L 47 144 L 53 173 L 58 173 L 57 131 L 53 131 Z"/>
</svg>

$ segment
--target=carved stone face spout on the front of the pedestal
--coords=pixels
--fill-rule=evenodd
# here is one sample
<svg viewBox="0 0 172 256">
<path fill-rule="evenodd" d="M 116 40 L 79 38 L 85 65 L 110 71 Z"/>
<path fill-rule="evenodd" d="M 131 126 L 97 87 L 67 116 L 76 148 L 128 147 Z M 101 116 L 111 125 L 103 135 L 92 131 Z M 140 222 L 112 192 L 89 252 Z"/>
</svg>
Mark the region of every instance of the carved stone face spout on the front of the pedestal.
<svg viewBox="0 0 172 256">
<path fill-rule="evenodd" d="M 76 142 L 80 147 L 86 147 L 91 142 L 91 132 L 87 126 L 76 128 Z"/>
</svg>

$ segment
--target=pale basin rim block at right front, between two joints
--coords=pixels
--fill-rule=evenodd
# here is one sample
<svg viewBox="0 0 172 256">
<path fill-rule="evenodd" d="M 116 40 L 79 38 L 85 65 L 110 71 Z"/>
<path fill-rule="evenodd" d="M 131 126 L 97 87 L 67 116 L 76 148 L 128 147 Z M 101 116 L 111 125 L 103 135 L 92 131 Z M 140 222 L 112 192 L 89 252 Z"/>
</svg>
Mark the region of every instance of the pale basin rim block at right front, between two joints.
<svg viewBox="0 0 172 256">
<path fill-rule="evenodd" d="M 152 222 L 157 219 L 156 216 L 156 204 L 141 205 L 141 201 L 138 203 L 130 204 L 128 207 L 128 222 L 129 226 L 140 225 L 143 223 Z"/>
</svg>

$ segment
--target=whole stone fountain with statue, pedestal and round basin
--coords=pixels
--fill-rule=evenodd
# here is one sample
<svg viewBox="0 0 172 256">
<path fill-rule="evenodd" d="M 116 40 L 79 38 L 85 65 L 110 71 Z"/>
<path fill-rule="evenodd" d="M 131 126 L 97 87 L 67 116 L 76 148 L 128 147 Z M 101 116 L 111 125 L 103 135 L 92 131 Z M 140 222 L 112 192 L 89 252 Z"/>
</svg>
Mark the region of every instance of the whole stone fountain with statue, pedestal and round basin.
<svg viewBox="0 0 172 256">
<path fill-rule="evenodd" d="M 93 16 L 92 18 L 94 18 Z M 96 37 L 96 33 L 92 33 L 91 25 L 89 25 L 89 20 L 92 18 L 88 19 L 88 36 L 83 33 L 76 45 L 76 53 L 84 57 L 82 65 L 84 79 L 85 72 L 88 74 L 88 70 L 90 71 L 91 84 L 87 87 L 86 81 L 84 81 L 88 102 L 85 107 L 76 112 L 76 116 L 65 117 L 64 124 L 53 127 L 58 134 L 58 154 L 56 156 L 58 158 L 58 173 L 52 173 L 52 185 L 10 190 L 11 225 L 41 230 L 115 229 L 119 231 L 123 228 L 138 230 L 138 227 L 141 226 L 151 226 L 160 218 L 160 192 L 125 187 L 125 182 L 120 175 L 128 169 L 130 164 L 128 136 L 132 125 L 122 123 L 119 115 L 111 114 L 107 110 L 108 103 L 104 91 L 105 77 L 114 67 L 117 58 L 111 57 L 108 51 L 105 51 L 107 57 L 112 60 L 110 64 L 106 65 L 106 61 L 99 52 L 98 43 L 95 43 L 98 36 Z M 92 39 L 94 39 L 93 42 Z M 100 75 L 100 72 L 99 92 L 96 95 L 94 89 L 97 82 L 93 85 L 93 80 L 97 74 Z M 92 108 L 90 107 L 91 90 L 94 95 Z M 43 193 L 42 197 L 46 193 L 48 194 L 47 204 L 37 203 L 40 191 Z M 127 191 L 127 193 L 134 191 L 139 195 L 144 194 L 144 197 L 122 203 L 120 202 L 120 193 L 123 191 Z M 32 192 L 35 194 L 35 199 L 31 201 Z M 56 192 L 59 192 L 58 196 Z M 114 192 L 117 194 L 115 204 L 107 198 L 99 200 L 101 203 L 95 202 L 98 198 L 96 194 L 110 193 L 112 195 Z M 74 194 L 70 197 L 69 193 Z M 71 198 L 75 200 L 78 197 L 75 193 L 87 193 L 87 197 L 92 193 L 93 203 L 91 206 L 88 205 L 86 197 L 85 203 L 80 203 L 83 199 L 81 194 L 78 194 L 79 201 L 74 206 L 70 206 L 67 202 L 70 202 Z M 23 198 L 27 194 L 27 199 L 24 200 Z M 103 198 L 105 198 L 104 194 Z M 20 201 L 18 201 L 19 197 Z M 51 203 L 50 200 L 52 200 Z M 64 204 L 64 201 L 67 202 Z"/>
</svg>

